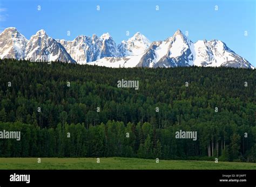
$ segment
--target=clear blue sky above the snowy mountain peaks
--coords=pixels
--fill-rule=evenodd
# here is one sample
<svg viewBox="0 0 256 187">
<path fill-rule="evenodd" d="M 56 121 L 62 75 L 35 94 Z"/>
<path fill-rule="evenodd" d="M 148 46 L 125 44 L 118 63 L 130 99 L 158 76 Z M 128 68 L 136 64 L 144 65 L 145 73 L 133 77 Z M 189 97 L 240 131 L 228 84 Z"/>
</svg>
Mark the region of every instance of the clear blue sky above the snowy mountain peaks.
<svg viewBox="0 0 256 187">
<path fill-rule="evenodd" d="M 16 27 L 28 39 L 44 29 L 55 39 L 109 32 L 119 43 L 141 32 L 155 41 L 180 29 L 194 42 L 222 40 L 254 66 L 255 17 L 254 0 L 0 0 L 0 30 Z"/>
</svg>

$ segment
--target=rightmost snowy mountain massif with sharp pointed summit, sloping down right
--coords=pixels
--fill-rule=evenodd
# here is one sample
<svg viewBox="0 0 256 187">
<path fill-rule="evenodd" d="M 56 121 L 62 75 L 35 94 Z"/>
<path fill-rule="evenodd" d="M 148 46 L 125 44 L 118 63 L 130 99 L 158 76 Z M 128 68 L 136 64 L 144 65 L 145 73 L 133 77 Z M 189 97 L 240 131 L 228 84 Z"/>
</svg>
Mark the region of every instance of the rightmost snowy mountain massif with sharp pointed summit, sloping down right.
<svg viewBox="0 0 256 187">
<path fill-rule="evenodd" d="M 137 67 L 235 67 L 254 68 L 220 40 L 193 43 L 180 31 L 165 41 L 153 42 Z"/>
</svg>

